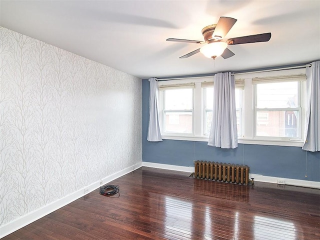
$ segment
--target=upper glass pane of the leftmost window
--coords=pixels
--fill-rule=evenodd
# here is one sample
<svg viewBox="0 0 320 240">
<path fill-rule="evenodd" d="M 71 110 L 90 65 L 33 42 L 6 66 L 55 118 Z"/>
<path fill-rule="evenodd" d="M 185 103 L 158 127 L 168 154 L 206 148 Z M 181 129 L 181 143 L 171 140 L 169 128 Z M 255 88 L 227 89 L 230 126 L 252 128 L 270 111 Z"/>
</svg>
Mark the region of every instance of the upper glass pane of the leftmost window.
<svg viewBox="0 0 320 240">
<path fill-rule="evenodd" d="M 164 109 L 166 110 L 192 109 L 192 88 L 165 90 L 164 91 Z"/>
</svg>

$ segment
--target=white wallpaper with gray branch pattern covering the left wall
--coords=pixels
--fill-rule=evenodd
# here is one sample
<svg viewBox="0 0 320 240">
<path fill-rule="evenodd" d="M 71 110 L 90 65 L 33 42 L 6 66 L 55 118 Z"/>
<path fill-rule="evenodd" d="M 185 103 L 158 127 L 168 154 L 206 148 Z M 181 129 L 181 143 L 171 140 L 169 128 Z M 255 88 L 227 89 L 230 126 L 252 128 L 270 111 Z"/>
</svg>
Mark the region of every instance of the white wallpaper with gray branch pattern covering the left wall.
<svg viewBox="0 0 320 240">
<path fill-rule="evenodd" d="M 0 225 L 142 159 L 141 80 L 0 27 Z"/>
</svg>

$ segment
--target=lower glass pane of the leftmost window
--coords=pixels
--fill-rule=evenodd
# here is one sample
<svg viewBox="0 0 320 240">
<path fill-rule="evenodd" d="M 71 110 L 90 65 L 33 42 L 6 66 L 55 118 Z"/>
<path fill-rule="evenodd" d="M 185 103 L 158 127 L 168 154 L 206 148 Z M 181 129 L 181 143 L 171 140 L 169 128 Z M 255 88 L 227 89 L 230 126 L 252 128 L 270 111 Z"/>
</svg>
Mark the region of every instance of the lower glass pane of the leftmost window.
<svg viewBox="0 0 320 240">
<path fill-rule="evenodd" d="M 192 112 L 165 112 L 164 131 L 192 133 Z"/>
</svg>

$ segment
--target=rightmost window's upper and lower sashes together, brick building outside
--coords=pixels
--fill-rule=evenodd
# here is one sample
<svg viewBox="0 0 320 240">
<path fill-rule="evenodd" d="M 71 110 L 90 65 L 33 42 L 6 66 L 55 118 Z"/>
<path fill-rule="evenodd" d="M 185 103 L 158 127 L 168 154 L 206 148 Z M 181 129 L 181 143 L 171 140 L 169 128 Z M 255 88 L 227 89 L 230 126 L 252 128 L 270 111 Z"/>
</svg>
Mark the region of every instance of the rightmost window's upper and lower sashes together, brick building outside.
<svg viewBox="0 0 320 240">
<path fill-rule="evenodd" d="M 255 137 L 301 137 L 300 81 L 255 84 Z"/>
</svg>

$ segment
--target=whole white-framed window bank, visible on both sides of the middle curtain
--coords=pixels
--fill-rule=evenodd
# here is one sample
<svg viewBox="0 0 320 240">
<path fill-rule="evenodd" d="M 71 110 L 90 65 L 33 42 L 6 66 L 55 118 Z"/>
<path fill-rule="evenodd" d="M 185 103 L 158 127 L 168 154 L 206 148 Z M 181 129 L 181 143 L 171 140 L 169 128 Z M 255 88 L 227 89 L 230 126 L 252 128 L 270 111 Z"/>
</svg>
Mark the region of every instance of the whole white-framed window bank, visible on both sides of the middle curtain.
<svg viewBox="0 0 320 240">
<path fill-rule="evenodd" d="M 305 68 L 235 76 L 239 143 L 302 146 Z M 213 77 L 159 82 L 162 138 L 207 141 Z"/>
</svg>

